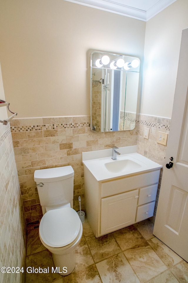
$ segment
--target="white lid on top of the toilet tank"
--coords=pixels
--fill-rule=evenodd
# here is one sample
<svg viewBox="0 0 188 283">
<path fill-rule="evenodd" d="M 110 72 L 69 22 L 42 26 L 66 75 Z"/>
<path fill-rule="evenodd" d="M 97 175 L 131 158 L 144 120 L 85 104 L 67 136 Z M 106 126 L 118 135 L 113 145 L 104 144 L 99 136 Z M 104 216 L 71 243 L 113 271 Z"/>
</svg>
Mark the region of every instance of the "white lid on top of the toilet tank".
<svg viewBox="0 0 188 283">
<path fill-rule="evenodd" d="M 68 179 L 74 176 L 72 166 L 35 170 L 34 180 L 36 182 L 54 182 Z"/>
</svg>

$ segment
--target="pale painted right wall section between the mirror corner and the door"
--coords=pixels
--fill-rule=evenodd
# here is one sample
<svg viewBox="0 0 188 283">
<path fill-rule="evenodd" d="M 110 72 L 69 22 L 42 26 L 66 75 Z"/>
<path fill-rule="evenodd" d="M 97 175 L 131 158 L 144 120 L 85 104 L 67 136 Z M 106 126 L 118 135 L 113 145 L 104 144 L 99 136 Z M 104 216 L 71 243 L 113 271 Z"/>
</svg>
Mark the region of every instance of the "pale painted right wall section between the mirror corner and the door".
<svg viewBox="0 0 188 283">
<path fill-rule="evenodd" d="M 171 118 L 182 30 L 187 27 L 187 0 L 175 1 L 146 23 L 140 113 Z"/>
</svg>

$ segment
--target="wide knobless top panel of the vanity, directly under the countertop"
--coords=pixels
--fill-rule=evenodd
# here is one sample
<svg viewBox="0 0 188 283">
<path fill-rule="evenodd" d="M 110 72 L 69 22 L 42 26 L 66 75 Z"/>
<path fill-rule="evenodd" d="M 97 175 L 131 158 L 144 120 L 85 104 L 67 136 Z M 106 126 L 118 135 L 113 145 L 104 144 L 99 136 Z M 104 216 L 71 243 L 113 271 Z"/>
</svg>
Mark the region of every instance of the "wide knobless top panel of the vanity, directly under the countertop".
<svg viewBox="0 0 188 283">
<path fill-rule="evenodd" d="M 101 197 L 109 197 L 158 183 L 159 174 L 160 170 L 156 170 L 143 174 L 132 175 L 122 179 L 102 182 Z"/>
</svg>

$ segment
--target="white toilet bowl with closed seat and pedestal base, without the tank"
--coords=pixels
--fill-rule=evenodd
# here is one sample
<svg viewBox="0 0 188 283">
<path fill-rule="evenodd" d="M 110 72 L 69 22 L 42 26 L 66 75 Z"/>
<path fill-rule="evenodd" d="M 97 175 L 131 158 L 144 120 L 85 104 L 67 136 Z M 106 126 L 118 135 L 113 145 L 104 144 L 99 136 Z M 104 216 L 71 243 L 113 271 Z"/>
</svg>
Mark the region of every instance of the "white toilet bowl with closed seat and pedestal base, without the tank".
<svg viewBox="0 0 188 283">
<path fill-rule="evenodd" d="M 61 275 L 70 274 L 76 265 L 75 249 L 82 238 L 82 223 L 70 207 L 48 210 L 39 225 L 39 237 L 52 253 L 54 266 Z"/>
</svg>

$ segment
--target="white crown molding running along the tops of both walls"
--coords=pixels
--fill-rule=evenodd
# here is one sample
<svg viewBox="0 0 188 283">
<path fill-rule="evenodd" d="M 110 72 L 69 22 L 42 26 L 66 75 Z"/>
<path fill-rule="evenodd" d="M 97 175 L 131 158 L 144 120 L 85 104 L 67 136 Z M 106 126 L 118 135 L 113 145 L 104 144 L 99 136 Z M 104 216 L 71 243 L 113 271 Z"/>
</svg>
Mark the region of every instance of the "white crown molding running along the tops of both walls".
<svg viewBox="0 0 188 283">
<path fill-rule="evenodd" d="M 163 9 L 171 5 L 176 0 L 160 0 L 157 4 L 147 11 L 136 9 L 110 0 L 64 0 L 76 4 L 100 9 L 103 11 L 119 14 L 122 16 L 138 19 L 141 21 L 148 21 Z"/>
</svg>

